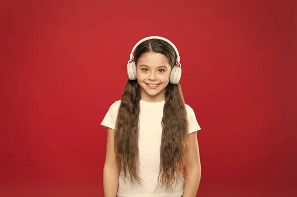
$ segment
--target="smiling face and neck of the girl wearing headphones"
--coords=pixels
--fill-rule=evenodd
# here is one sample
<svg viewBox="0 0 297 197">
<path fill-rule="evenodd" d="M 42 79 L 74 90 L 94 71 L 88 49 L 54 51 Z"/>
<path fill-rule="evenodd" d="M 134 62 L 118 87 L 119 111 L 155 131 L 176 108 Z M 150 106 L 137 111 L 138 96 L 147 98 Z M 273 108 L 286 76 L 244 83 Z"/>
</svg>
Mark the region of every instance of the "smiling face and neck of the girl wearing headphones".
<svg viewBox="0 0 297 197">
<path fill-rule="evenodd" d="M 142 87 L 143 100 L 158 102 L 165 99 L 165 87 L 169 83 L 171 66 L 165 55 L 147 52 L 137 63 L 137 81 Z"/>
</svg>

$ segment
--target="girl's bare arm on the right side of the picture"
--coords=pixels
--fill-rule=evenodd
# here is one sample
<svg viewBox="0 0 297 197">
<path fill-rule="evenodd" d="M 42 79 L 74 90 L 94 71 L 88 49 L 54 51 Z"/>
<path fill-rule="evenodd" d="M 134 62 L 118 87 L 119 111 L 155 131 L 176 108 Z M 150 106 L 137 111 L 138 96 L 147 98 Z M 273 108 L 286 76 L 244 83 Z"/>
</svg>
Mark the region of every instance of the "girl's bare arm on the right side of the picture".
<svg viewBox="0 0 297 197">
<path fill-rule="evenodd" d="M 183 197 L 196 197 L 201 177 L 197 132 L 189 134 L 189 147 L 187 150 L 187 155 L 187 179 L 185 180 L 184 184 Z"/>
</svg>

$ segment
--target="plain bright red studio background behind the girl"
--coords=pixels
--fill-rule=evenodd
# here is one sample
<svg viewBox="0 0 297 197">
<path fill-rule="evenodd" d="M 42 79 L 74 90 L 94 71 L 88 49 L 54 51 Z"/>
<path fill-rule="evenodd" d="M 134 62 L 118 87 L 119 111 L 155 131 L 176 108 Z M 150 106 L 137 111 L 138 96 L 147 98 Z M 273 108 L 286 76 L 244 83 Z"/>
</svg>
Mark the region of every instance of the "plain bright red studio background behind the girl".
<svg viewBox="0 0 297 197">
<path fill-rule="evenodd" d="M 101 197 L 106 129 L 134 44 L 180 51 L 198 197 L 297 194 L 296 1 L 2 0 L 0 196 Z"/>
</svg>

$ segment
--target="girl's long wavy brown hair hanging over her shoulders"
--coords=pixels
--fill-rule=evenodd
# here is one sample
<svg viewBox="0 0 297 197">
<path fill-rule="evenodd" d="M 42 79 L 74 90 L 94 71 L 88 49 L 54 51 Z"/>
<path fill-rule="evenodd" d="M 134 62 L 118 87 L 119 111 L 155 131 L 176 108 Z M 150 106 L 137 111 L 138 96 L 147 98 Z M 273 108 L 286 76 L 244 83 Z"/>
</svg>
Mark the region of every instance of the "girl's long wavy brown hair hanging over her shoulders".
<svg viewBox="0 0 297 197">
<path fill-rule="evenodd" d="M 153 51 L 165 55 L 171 67 L 175 65 L 176 53 L 166 41 L 150 39 L 141 43 L 134 56 L 139 58 Z M 115 127 L 116 162 L 124 178 L 131 183 L 141 184 L 139 176 L 139 114 L 140 85 L 137 80 L 128 79 L 122 94 Z M 186 178 L 186 150 L 188 146 L 188 119 L 180 84 L 168 83 L 162 118 L 162 139 L 160 146 L 160 173 L 158 187 L 172 189 L 175 180 Z"/>
</svg>

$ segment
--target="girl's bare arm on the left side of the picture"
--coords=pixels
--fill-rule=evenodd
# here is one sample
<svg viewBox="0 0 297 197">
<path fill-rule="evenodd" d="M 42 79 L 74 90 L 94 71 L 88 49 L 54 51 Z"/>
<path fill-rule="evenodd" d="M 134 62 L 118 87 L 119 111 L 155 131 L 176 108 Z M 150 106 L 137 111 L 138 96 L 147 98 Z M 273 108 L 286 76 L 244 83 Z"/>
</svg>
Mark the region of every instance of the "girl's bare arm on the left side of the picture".
<svg viewBox="0 0 297 197">
<path fill-rule="evenodd" d="M 103 167 L 104 197 L 116 197 L 119 180 L 119 169 L 116 166 L 114 152 L 114 130 L 107 128 L 106 157 Z"/>
</svg>

